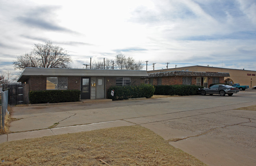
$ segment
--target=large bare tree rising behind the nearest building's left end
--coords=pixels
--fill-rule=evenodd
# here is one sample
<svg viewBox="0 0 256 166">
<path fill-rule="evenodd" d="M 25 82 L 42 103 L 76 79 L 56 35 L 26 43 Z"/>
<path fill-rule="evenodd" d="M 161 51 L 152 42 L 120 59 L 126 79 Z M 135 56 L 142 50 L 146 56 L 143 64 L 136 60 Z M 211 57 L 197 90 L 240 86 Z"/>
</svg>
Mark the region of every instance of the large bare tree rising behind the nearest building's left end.
<svg viewBox="0 0 256 166">
<path fill-rule="evenodd" d="M 48 41 L 45 44 L 34 44 L 31 53 L 17 56 L 13 65 L 15 69 L 26 67 L 70 68 L 71 62 L 71 57 L 67 51 Z"/>
</svg>

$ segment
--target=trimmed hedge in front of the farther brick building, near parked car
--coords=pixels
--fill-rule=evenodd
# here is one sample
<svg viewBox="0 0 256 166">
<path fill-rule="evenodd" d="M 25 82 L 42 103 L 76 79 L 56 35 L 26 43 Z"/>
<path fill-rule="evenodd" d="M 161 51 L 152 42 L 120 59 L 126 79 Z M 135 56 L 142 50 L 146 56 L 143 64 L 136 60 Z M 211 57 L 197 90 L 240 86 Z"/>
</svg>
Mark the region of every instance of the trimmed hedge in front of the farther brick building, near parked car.
<svg viewBox="0 0 256 166">
<path fill-rule="evenodd" d="M 154 94 L 159 95 L 195 95 L 198 89 L 203 88 L 203 86 L 198 85 L 157 85 Z"/>
</svg>

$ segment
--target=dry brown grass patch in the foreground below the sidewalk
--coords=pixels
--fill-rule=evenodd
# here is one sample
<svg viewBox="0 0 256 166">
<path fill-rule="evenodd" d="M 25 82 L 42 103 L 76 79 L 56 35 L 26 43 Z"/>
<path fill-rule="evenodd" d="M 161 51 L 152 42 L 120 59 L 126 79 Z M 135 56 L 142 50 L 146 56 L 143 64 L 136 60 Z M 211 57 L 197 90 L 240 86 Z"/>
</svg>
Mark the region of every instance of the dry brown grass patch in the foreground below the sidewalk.
<svg viewBox="0 0 256 166">
<path fill-rule="evenodd" d="M 176 149 L 144 127 L 99 129 L 0 144 L 1 165 L 199 166 L 195 157 Z"/>
</svg>

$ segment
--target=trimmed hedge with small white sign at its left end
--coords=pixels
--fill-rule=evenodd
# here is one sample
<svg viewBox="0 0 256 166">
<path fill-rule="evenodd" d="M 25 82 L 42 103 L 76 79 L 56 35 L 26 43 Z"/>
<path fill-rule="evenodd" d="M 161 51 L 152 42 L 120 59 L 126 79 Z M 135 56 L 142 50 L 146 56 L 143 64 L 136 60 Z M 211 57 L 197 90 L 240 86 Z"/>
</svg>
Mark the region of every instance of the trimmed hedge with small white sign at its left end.
<svg viewBox="0 0 256 166">
<path fill-rule="evenodd" d="M 114 96 L 111 96 L 111 90 Z M 153 85 L 141 84 L 139 86 L 114 86 L 108 90 L 108 98 L 112 100 L 125 100 L 128 98 L 150 98 L 155 88 Z"/>
</svg>

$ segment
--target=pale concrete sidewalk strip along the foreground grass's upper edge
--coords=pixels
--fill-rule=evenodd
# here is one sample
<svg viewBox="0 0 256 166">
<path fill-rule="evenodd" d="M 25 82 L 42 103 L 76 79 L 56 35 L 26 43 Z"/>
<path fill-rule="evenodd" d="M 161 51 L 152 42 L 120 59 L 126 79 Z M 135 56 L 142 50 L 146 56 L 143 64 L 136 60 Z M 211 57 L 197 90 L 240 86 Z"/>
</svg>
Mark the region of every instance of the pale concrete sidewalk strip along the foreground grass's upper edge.
<svg viewBox="0 0 256 166">
<path fill-rule="evenodd" d="M 10 134 L 0 135 L 0 143 L 7 142 L 7 141 L 14 141 L 14 140 L 40 138 L 43 136 L 77 133 L 82 131 L 91 131 L 91 130 L 97 130 L 97 129 L 105 129 L 109 127 L 121 127 L 121 126 L 128 126 L 128 125 L 135 125 L 135 124 L 126 122 L 124 120 L 115 120 L 115 121 L 100 122 L 100 123 L 87 124 L 87 125 L 75 125 L 75 126 L 67 126 L 67 127 L 57 127 L 52 129 L 10 133 Z"/>
</svg>

